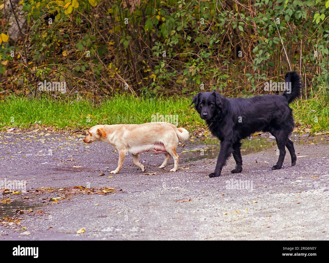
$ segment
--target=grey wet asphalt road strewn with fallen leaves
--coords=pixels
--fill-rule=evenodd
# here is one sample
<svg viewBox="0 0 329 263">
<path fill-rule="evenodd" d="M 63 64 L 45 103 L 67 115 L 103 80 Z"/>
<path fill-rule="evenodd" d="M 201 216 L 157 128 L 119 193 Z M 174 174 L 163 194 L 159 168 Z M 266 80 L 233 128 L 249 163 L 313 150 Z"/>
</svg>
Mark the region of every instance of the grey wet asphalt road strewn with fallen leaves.
<svg viewBox="0 0 329 263">
<path fill-rule="evenodd" d="M 10 201 L 0 202 L 0 240 L 329 239 L 326 138 L 314 145 L 295 144 L 297 156 L 304 157 L 291 167 L 287 151 L 283 169 L 277 171 L 271 170 L 278 157 L 271 147 L 246 152 L 242 173 L 230 173 L 235 167 L 231 157 L 221 177 L 209 178 L 215 155 L 180 153 L 209 147 L 186 143 L 177 147 L 184 170 L 168 172 L 172 159 L 160 170 L 164 155 L 144 153 L 145 172 L 127 156 L 123 169 L 109 178 L 117 152 L 102 142 L 87 145 L 83 137 L 0 133 L 0 177 L 24 180 L 31 191 L 1 195 Z M 105 175 L 97 176 L 101 172 Z M 71 196 L 35 192 L 74 186 L 115 191 Z M 58 201 L 50 201 L 56 197 Z M 76 233 L 80 229 L 85 232 Z"/>
</svg>

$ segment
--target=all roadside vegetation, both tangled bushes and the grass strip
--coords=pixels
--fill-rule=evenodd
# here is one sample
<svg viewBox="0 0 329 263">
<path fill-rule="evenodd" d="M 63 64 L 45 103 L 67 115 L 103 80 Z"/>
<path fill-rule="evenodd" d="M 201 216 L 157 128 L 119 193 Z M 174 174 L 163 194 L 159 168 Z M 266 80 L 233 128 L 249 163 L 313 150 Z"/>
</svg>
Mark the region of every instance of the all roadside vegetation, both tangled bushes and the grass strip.
<svg viewBox="0 0 329 263">
<path fill-rule="evenodd" d="M 157 113 L 204 129 L 189 108 L 196 92 L 278 94 L 265 83 L 295 70 L 304 83 L 291 105 L 296 131 L 328 131 L 328 0 L 12 4 L 0 2 L 2 130 L 81 130 Z M 40 91 L 43 82 L 65 91 Z"/>
</svg>

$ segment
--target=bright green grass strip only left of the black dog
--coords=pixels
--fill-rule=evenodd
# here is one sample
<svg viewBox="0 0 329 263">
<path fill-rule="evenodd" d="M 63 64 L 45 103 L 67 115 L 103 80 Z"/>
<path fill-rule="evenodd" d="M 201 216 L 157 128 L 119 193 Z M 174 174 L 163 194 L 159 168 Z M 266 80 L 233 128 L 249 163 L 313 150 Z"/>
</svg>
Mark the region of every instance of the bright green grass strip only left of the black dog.
<svg viewBox="0 0 329 263">
<path fill-rule="evenodd" d="M 157 113 L 175 117 L 177 115 L 179 127 L 192 130 L 199 125 L 204 126 L 189 104 L 189 98 L 147 99 L 123 95 L 116 95 L 98 105 L 87 100 L 76 102 L 46 97 L 33 100 L 15 97 L 0 102 L 0 128 L 29 128 L 36 121 L 41 121 L 40 125 L 58 129 L 83 129 L 96 124 L 140 124 L 151 122 Z M 12 120 L 14 124 L 11 123 Z M 35 126 L 32 127 L 35 129 Z"/>
</svg>

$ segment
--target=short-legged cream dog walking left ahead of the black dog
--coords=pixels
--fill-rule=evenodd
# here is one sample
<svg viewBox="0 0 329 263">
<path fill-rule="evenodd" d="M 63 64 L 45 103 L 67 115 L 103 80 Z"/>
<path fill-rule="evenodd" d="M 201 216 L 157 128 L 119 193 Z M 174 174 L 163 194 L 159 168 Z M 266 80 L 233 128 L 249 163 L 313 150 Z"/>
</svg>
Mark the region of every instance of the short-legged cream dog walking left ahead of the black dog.
<svg viewBox="0 0 329 263">
<path fill-rule="evenodd" d="M 139 153 L 153 151 L 155 154 L 164 153 L 164 162 L 160 169 L 167 165 L 172 156 L 176 172 L 179 156 L 176 153 L 178 141 L 189 138 L 189 132 L 177 128 L 167 122 L 149 122 L 144 124 L 114 124 L 96 125 L 89 129 L 89 134 L 83 140 L 85 143 L 103 141 L 111 144 L 119 152 L 118 167 L 111 173 L 118 173 L 128 152 L 133 155 L 134 164 L 145 171 L 145 166 L 139 162 Z"/>
</svg>

